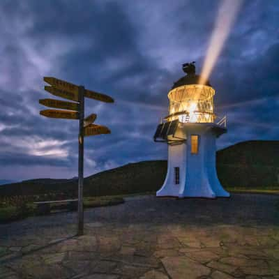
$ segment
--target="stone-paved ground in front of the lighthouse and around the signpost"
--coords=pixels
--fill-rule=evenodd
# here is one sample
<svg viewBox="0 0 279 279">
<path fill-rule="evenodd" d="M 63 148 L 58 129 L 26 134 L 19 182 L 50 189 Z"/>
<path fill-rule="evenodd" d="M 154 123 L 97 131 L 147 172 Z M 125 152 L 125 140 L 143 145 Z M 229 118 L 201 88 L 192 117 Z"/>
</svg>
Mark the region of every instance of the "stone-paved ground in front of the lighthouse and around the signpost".
<svg viewBox="0 0 279 279">
<path fill-rule="evenodd" d="M 279 278 L 278 196 L 137 197 L 0 225 L 0 278 Z"/>
</svg>

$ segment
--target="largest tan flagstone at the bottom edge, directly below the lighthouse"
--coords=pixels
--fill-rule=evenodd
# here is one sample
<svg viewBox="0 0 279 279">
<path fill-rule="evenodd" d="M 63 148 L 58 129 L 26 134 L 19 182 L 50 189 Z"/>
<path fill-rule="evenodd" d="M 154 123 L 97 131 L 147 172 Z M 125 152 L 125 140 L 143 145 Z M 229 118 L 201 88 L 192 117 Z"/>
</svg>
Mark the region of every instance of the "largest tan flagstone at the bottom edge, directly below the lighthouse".
<svg viewBox="0 0 279 279">
<path fill-rule="evenodd" d="M 208 276 L 211 272 L 206 266 L 199 264 L 188 257 L 165 257 L 163 265 L 172 279 L 196 279 L 199 276 Z"/>
</svg>

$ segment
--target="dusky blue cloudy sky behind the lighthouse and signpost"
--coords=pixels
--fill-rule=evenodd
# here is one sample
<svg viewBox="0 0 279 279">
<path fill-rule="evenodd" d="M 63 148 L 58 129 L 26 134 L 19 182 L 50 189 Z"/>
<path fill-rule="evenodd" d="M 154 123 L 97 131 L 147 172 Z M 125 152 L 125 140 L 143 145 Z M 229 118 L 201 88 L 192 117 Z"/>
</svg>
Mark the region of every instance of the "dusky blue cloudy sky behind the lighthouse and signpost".
<svg viewBox="0 0 279 279">
<path fill-rule="evenodd" d="M 234 0 L 232 0 L 234 1 Z M 202 70 L 218 0 L 1 0 L 0 179 L 77 176 L 77 121 L 39 115 L 43 76 L 107 93 L 86 114 L 112 135 L 87 137 L 85 175 L 167 158 L 153 142 L 181 64 Z M 244 0 L 210 75 L 216 112 L 227 115 L 223 148 L 278 140 L 279 3 Z"/>
</svg>

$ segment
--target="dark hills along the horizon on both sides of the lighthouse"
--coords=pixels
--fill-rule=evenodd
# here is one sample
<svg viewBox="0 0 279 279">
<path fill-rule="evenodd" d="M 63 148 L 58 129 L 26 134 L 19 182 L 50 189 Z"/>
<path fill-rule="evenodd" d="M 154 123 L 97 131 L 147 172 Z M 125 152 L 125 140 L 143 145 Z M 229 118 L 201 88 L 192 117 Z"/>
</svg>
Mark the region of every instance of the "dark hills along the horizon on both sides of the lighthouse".
<svg viewBox="0 0 279 279">
<path fill-rule="evenodd" d="M 217 171 L 225 187 L 279 186 L 279 141 L 248 141 L 217 152 Z M 163 185 L 166 160 L 131 163 L 84 179 L 84 195 L 121 195 L 156 191 Z M 0 196 L 66 193 L 77 195 L 76 179 L 34 179 L 0 188 Z"/>
</svg>

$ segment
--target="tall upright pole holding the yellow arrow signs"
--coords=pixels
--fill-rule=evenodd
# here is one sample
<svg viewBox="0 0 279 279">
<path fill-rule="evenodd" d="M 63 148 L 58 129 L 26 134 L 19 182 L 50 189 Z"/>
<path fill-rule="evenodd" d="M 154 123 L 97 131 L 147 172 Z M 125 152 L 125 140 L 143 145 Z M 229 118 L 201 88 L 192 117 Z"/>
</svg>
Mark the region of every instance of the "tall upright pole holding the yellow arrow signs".
<svg viewBox="0 0 279 279">
<path fill-rule="evenodd" d="M 79 133 L 79 163 L 78 163 L 78 226 L 77 235 L 83 234 L 84 213 L 83 213 L 83 154 L 84 154 L 84 86 L 79 86 L 80 101 L 80 133 Z"/>
</svg>

